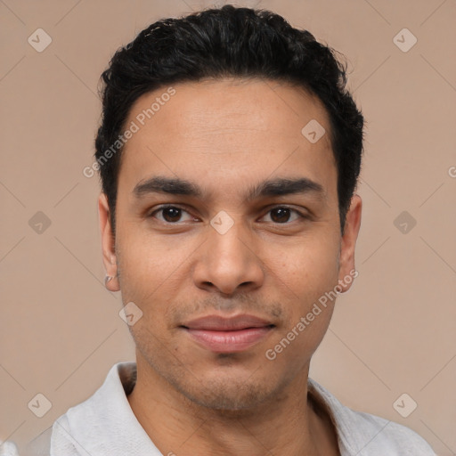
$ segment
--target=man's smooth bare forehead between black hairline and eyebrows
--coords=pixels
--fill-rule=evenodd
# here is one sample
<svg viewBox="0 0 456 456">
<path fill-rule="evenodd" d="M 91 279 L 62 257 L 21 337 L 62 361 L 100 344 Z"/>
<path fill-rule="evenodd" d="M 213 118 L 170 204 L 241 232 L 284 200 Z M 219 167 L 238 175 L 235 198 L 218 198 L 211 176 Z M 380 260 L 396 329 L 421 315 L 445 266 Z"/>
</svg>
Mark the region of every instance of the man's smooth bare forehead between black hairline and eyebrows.
<svg viewBox="0 0 456 456">
<path fill-rule="evenodd" d="M 197 175 L 220 191 L 276 172 L 304 173 L 325 187 L 336 179 L 322 102 L 287 83 L 227 78 L 165 86 L 134 103 L 126 126 L 133 124 L 119 188 L 124 183 L 131 190 L 151 175 Z M 309 141 L 308 125 L 326 133 Z"/>
</svg>

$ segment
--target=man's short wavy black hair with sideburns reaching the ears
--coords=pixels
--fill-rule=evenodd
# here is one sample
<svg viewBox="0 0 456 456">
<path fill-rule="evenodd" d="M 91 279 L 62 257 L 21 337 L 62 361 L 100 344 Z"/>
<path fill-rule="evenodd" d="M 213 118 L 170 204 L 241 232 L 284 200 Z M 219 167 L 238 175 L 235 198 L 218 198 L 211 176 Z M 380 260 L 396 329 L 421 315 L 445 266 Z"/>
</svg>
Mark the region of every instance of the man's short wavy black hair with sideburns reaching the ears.
<svg viewBox="0 0 456 456">
<path fill-rule="evenodd" d="M 346 90 L 346 63 L 335 53 L 274 12 L 232 4 L 158 20 L 118 49 L 102 73 L 102 121 L 94 154 L 113 232 L 123 149 L 118 139 L 134 102 L 166 85 L 223 77 L 284 81 L 320 99 L 330 118 L 344 232 L 361 167 L 363 117 Z"/>
</svg>

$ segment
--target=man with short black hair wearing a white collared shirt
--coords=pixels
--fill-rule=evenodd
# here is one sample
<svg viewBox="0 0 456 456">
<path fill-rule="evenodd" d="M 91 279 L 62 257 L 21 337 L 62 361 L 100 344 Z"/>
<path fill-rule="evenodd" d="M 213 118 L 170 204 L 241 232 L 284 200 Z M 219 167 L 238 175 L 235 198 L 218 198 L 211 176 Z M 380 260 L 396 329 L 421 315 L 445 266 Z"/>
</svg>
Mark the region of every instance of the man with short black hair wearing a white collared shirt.
<svg viewBox="0 0 456 456">
<path fill-rule="evenodd" d="M 433 455 L 308 378 L 357 275 L 362 114 L 330 48 L 266 11 L 160 20 L 102 79 L 106 287 L 136 362 L 51 454 Z"/>
</svg>

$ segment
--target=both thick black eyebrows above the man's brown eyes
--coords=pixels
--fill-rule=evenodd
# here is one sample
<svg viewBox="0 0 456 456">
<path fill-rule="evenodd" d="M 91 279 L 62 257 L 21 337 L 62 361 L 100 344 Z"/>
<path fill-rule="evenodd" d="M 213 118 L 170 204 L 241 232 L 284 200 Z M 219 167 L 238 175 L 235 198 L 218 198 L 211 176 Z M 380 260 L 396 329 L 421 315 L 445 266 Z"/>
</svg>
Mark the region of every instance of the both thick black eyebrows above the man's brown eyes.
<svg viewBox="0 0 456 456">
<path fill-rule="evenodd" d="M 165 176 L 154 176 L 137 183 L 133 193 L 138 199 L 150 193 L 184 195 L 195 198 L 201 198 L 203 196 L 202 189 L 196 183 L 191 183 L 190 181 L 178 177 Z M 278 177 L 250 186 L 248 188 L 246 200 L 249 201 L 261 197 L 306 193 L 311 193 L 322 198 L 325 191 L 320 183 L 316 183 L 307 177 Z"/>
</svg>

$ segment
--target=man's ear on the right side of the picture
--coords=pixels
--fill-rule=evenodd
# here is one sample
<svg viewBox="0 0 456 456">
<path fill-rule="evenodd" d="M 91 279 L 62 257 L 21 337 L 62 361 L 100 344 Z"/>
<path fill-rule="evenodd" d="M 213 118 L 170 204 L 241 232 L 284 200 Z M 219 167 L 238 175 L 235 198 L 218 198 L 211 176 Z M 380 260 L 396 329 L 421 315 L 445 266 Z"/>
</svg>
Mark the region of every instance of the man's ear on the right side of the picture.
<svg viewBox="0 0 456 456">
<path fill-rule="evenodd" d="M 350 289 L 354 277 L 358 275 L 354 269 L 354 247 L 360 231 L 361 212 L 362 199 L 355 194 L 346 213 L 346 224 L 340 243 L 338 285 L 342 293 Z"/>
</svg>

